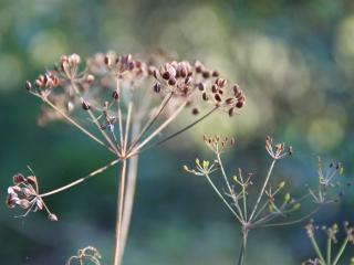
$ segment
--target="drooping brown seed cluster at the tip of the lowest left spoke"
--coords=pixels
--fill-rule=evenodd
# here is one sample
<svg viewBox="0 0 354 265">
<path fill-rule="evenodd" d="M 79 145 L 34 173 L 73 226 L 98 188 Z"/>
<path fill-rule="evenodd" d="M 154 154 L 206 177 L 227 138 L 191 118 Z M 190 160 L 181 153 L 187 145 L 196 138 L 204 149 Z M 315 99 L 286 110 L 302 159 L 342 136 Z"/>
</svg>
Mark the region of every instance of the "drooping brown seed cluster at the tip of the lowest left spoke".
<svg viewBox="0 0 354 265">
<path fill-rule="evenodd" d="M 21 218 L 27 216 L 31 211 L 45 210 L 50 221 L 58 221 L 56 215 L 49 210 L 40 195 L 34 174 L 24 177 L 21 173 L 17 173 L 13 176 L 13 186 L 8 188 L 7 205 L 11 209 L 18 206 L 24 210 L 25 212 L 19 215 Z"/>
</svg>

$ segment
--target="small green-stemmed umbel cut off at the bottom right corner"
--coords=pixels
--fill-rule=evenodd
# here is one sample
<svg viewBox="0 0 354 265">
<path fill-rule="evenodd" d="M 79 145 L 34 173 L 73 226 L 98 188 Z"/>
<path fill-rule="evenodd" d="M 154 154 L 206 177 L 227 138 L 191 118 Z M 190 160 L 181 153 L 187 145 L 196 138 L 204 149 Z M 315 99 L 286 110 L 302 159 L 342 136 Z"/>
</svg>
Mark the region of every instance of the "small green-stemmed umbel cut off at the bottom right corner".
<svg viewBox="0 0 354 265">
<path fill-rule="evenodd" d="M 340 264 L 340 261 L 343 259 L 342 257 L 345 251 L 350 247 L 350 244 L 354 244 L 354 227 L 351 227 L 348 222 L 345 222 L 343 225 L 345 237 L 342 240 L 342 242 L 339 242 L 337 240 L 337 234 L 340 233 L 337 224 L 333 224 L 330 227 L 321 227 L 327 237 L 324 252 L 322 252 L 319 247 L 317 240 L 315 237 L 315 231 L 319 230 L 320 226 L 314 225 L 313 220 L 311 220 L 305 229 L 316 257 L 308 259 L 306 262 L 302 263 L 303 265 L 337 265 Z M 343 264 L 342 261 L 341 264 Z M 354 265 L 354 256 L 347 264 Z"/>
</svg>

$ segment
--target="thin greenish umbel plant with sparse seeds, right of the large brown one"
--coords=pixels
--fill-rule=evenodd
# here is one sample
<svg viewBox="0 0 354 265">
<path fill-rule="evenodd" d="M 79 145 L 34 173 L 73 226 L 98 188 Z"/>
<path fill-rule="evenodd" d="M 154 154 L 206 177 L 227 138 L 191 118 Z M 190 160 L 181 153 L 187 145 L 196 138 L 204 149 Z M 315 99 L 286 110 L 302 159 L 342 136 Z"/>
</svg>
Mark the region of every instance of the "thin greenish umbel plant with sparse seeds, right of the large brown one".
<svg viewBox="0 0 354 265">
<path fill-rule="evenodd" d="M 204 137 L 207 147 L 214 152 L 214 161 L 196 159 L 196 166 L 184 169 L 192 174 L 205 177 L 223 204 L 233 214 L 236 221 L 240 223 L 242 233 L 242 245 L 238 258 L 238 264 L 246 264 L 247 242 L 249 232 L 261 229 L 282 226 L 300 223 L 313 215 L 322 205 L 336 202 L 342 193 L 336 193 L 341 183 L 335 180 L 336 174 L 343 172 L 341 163 L 331 163 L 327 169 L 323 169 L 319 159 L 319 187 L 316 189 L 308 187 L 308 192 L 295 199 L 289 192 L 284 192 L 285 181 L 275 186 L 271 184 L 271 176 L 278 161 L 292 155 L 292 147 L 285 148 L 284 144 L 273 145 L 272 138 L 267 137 L 266 150 L 271 158 L 271 163 L 263 179 L 262 188 L 257 199 L 249 198 L 249 189 L 252 187 L 253 173 L 243 173 L 238 169 L 232 178 L 229 178 L 221 159 L 226 148 L 236 144 L 235 138 Z M 218 186 L 212 174 L 221 172 L 222 186 Z M 304 200 L 313 202 L 313 211 L 302 216 L 293 216 Z M 285 220 L 284 220 L 285 219 Z M 277 221 L 282 220 L 282 221 Z"/>
</svg>

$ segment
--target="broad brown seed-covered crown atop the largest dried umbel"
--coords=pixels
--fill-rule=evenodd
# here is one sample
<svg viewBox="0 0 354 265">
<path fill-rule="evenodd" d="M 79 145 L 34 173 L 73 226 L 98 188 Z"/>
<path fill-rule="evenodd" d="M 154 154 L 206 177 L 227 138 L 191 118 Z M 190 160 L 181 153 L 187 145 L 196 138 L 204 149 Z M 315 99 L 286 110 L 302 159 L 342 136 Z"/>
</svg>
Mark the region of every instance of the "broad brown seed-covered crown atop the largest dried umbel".
<svg viewBox="0 0 354 265">
<path fill-rule="evenodd" d="M 77 105 L 84 110 L 102 108 L 102 99 L 107 99 L 103 94 L 107 91 L 112 100 L 119 100 L 123 91 L 127 89 L 133 96 L 135 91 L 144 93 L 144 87 L 153 87 L 153 94 L 171 94 L 175 107 L 187 102 L 186 106 L 191 107 L 192 115 L 200 113 L 201 102 L 211 103 L 229 116 L 233 116 L 236 109 L 242 108 L 246 103 L 239 85 L 228 87 L 227 80 L 219 77 L 218 71 L 208 70 L 199 61 L 194 64 L 188 61 L 160 64 L 155 57 L 144 62 L 132 54 L 97 53 L 87 60 L 83 71 L 80 71 L 81 63 L 77 54 L 63 55 L 53 70 L 34 81 L 34 85 L 25 82 L 25 88 L 48 98 L 67 114 Z M 148 100 L 152 96 L 145 93 L 144 99 Z M 45 125 L 56 118 L 62 117 L 50 108 L 42 108 L 39 123 Z"/>
</svg>

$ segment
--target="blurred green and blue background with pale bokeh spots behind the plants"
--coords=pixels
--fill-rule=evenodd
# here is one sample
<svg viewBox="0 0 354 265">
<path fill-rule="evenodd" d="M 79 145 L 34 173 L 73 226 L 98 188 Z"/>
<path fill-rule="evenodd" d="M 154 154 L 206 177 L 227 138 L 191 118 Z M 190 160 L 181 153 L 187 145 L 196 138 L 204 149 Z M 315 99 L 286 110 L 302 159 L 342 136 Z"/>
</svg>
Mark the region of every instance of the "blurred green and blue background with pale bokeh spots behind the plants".
<svg viewBox="0 0 354 265">
<path fill-rule="evenodd" d="M 181 170 L 196 156 L 211 159 L 202 134 L 233 135 L 225 157 L 264 177 L 266 135 L 294 147 L 275 178 L 299 192 L 316 181 L 316 157 L 340 160 L 354 176 L 354 2 L 1 0 L 0 201 L 15 172 L 31 165 L 49 190 L 105 165 L 106 152 L 62 123 L 37 126 L 39 100 L 23 89 L 60 55 L 96 51 L 140 53 L 163 47 L 199 59 L 237 82 L 247 95 L 241 115 L 215 115 L 191 131 L 144 153 L 126 265 L 235 264 L 238 226 L 204 179 Z M 77 248 L 96 246 L 110 264 L 115 178 L 110 170 L 50 198 L 60 222 L 14 219 L 0 206 L 1 264 L 64 264 Z M 278 179 L 279 181 L 279 179 Z M 257 182 L 257 181 L 256 181 Z M 354 221 L 354 192 L 326 208 L 320 224 Z M 304 205 L 304 211 L 306 205 Z M 249 264 L 300 264 L 313 255 L 304 224 L 250 234 Z"/>
</svg>

